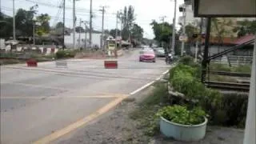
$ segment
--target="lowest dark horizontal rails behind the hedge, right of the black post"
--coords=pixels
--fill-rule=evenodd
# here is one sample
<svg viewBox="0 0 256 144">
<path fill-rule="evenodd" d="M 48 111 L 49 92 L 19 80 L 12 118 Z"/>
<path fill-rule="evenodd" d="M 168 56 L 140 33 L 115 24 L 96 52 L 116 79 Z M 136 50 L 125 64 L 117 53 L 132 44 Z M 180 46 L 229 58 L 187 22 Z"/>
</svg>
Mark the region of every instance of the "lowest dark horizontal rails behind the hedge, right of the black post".
<svg viewBox="0 0 256 144">
<path fill-rule="evenodd" d="M 207 87 L 218 89 L 218 90 L 233 90 L 233 91 L 242 91 L 242 92 L 248 92 L 250 90 L 250 83 L 206 81 L 205 85 Z"/>
</svg>

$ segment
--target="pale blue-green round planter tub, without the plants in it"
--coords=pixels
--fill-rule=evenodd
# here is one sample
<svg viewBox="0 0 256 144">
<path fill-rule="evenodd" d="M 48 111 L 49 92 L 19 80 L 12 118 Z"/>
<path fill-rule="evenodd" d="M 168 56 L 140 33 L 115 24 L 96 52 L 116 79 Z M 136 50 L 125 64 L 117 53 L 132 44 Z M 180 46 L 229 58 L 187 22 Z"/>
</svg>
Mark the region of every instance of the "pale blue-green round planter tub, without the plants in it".
<svg viewBox="0 0 256 144">
<path fill-rule="evenodd" d="M 198 141 L 206 135 L 206 124 L 208 120 L 198 125 L 182 125 L 170 122 L 165 118 L 160 119 L 160 131 L 166 137 L 174 138 L 178 141 Z"/>
</svg>

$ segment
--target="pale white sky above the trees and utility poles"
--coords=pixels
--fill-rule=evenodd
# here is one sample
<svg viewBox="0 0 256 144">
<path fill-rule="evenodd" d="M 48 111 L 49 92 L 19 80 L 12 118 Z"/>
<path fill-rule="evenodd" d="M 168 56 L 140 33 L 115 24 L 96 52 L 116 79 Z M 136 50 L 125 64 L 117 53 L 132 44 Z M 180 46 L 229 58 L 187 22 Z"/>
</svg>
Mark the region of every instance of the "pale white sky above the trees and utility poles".
<svg viewBox="0 0 256 144">
<path fill-rule="evenodd" d="M 63 0 L 15 0 L 15 10 L 19 8 L 29 10 L 31 6 L 38 4 L 38 14 L 49 14 L 51 16 L 50 26 L 62 22 L 63 10 L 58 8 Z M 0 0 L 1 11 L 12 16 L 13 0 Z M 150 22 L 155 19 L 158 22 L 160 17 L 166 16 L 165 21 L 172 23 L 174 18 L 174 0 L 92 0 L 93 2 L 93 27 L 95 30 L 102 30 L 102 12 L 101 6 L 106 6 L 104 20 L 104 29 L 114 29 L 116 27 L 117 11 L 124 9 L 125 6 L 134 6 L 135 22 L 142 26 L 145 38 L 154 38 Z M 177 0 L 177 18 L 176 28 L 178 29 L 178 17 L 182 13 L 178 12 L 178 6 L 182 5 L 183 0 Z M 76 26 L 79 26 L 80 18 L 82 21 L 88 21 L 90 18 L 90 0 L 78 0 L 75 2 Z M 73 24 L 73 0 L 66 0 L 66 26 L 72 28 Z M 120 29 L 120 23 L 118 24 Z"/>
</svg>

